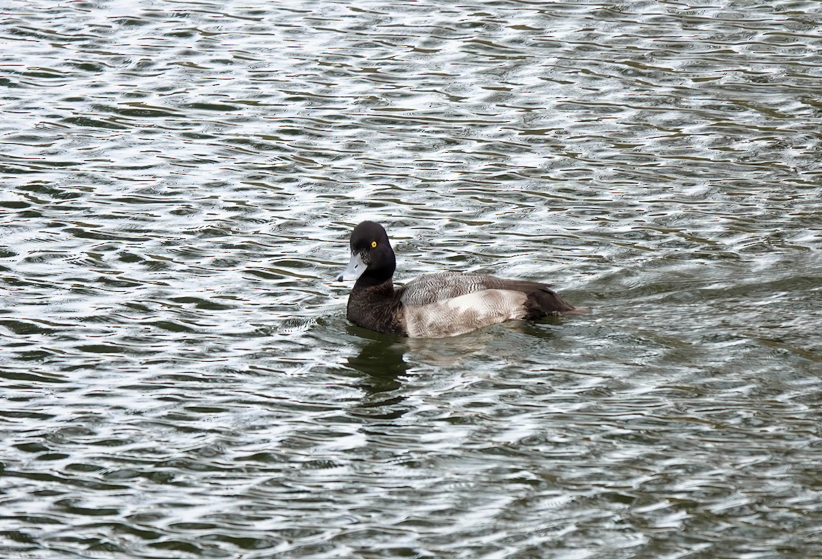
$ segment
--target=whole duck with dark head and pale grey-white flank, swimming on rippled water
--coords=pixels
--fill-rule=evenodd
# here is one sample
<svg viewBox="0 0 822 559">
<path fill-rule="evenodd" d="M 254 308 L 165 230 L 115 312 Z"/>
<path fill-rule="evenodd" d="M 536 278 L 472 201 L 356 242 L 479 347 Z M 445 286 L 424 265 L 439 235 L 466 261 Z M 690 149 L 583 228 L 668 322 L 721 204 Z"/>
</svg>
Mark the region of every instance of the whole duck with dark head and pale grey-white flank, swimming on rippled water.
<svg viewBox="0 0 822 559">
<path fill-rule="evenodd" d="M 581 314 L 547 284 L 493 275 L 441 272 L 395 288 L 396 256 L 386 229 L 363 221 L 351 232 L 351 260 L 337 281 L 354 280 L 346 315 L 368 330 L 446 338 L 485 326 Z"/>
</svg>

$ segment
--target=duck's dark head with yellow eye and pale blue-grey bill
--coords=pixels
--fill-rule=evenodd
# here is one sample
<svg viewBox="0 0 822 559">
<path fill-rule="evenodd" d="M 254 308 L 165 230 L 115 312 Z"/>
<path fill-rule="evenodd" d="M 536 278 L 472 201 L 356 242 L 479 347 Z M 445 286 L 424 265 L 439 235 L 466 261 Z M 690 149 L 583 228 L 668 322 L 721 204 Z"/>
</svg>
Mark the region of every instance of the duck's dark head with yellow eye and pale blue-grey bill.
<svg viewBox="0 0 822 559">
<path fill-rule="evenodd" d="M 351 232 L 351 261 L 337 281 L 358 280 L 358 284 L 381 284 L 394 276 L 396 266 L 386 229 L 373 221 L 363 221 Z"/>
</svg>

